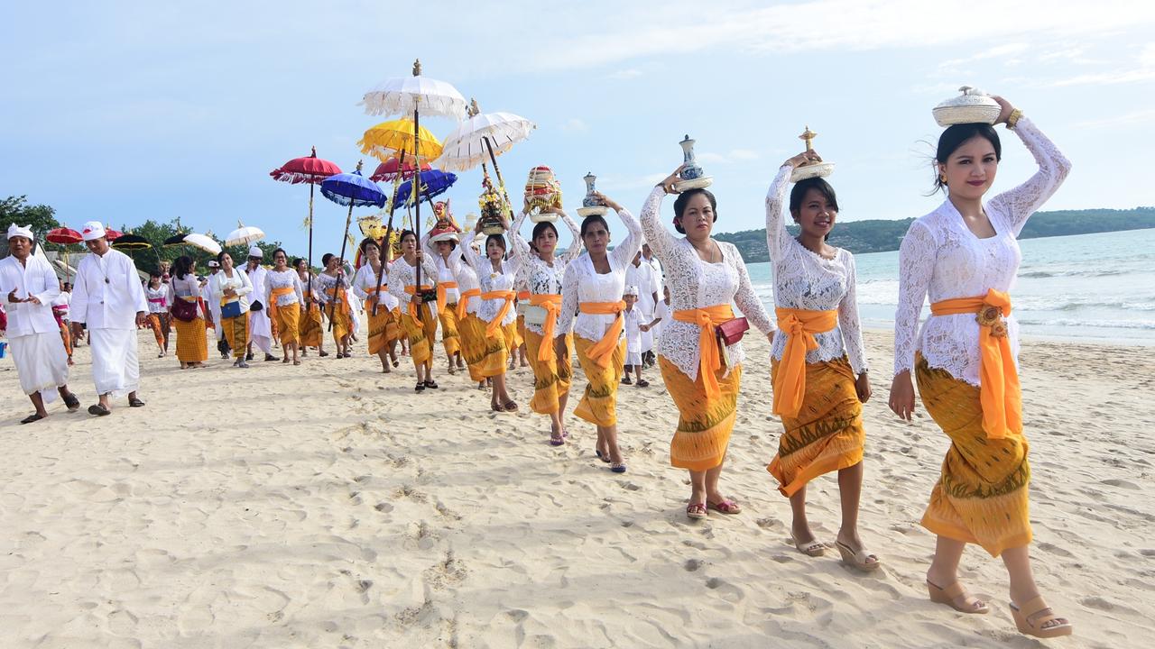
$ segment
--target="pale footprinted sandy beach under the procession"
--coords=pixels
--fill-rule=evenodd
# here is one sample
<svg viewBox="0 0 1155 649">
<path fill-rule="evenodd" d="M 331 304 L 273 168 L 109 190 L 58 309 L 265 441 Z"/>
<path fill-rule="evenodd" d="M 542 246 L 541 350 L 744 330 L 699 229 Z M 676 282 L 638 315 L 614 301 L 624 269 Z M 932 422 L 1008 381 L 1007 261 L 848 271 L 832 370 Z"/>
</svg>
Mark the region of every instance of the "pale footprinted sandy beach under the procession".
<svg viewBox="0 0 1155 649">
<path fill-rule="evenodd" d="M 362 340 L 365 340 L 364 334 Z M 971 546 L 962 579 L 991 614 L 926 599 L 933 537 L 918 525 L 948 446 L 919 409 L 886 408 L 891 335 L 867 334 L 862 534 L 884 569 L 789 542 L 790 509 L 765 470 L 781 431 L 768 345 L 747 337 L 723 487 L 738 516 L 684 514 L 669 465 L 677 411 L 656 370 L 623 386 L 629 465 L 567 446 L 529 412 L 487 410 L 467 375 L 415 395 L 408 359 L 300 367 L 210 358 L 181 371 L 140 334 L 144 409 L 114 403 L 35 425 L 0 360 L 0 647 L 1040 647 L 1015 632 L 1001 561 Z M 89 349 L 72 385 L 94 401 Z M 1056 647 L 1139 647 L 1155 632 L 1155 353 L 1027 342 L 1036 576 L 1075 625 Z M 574 395 L 584 387 L 575 378 Z M 229 393 L 245 395 L 228 402 Z M 572 401 L 571 403 L 574 403 Z M 839 527 L 833 476 L 811 490 L 820 538 Z"/>
</svg>

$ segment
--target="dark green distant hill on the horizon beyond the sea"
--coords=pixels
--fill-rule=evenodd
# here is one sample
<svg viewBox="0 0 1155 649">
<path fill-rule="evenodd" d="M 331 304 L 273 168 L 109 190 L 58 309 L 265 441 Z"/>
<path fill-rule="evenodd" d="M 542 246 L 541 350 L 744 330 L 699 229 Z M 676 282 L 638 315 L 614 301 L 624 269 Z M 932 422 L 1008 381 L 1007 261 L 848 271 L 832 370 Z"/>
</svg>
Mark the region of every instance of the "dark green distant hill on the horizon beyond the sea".
<svg viewBox="0 0 1155 649">
<path fill-rule="evenodd" d="M 912 221 L 914 218 L 839 223 L 830 233 L 830 245 L 847 248 L 856 254 L 896 251 Z M 1020 238 L 1065 237 L 1147 227 L 1155 227 L 1155 207 L 1041 211 L 1030 217 Z M 788 230 L 791 234 L 798 233 L 798 227 L 793 224 Z M 766 251 L 766 229 L 725 232 L 714 237 L 737 246 L 747 262 L 770 260 Z"/>
</svg>

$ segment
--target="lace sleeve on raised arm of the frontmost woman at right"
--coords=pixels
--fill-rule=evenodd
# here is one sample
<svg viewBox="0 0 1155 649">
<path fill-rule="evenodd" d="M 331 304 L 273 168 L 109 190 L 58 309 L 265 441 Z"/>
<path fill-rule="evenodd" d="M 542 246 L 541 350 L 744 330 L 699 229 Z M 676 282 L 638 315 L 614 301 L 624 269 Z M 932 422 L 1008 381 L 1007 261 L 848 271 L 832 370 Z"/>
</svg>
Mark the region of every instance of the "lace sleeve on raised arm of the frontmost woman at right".
<svg viewBox="0 0 1155 649">
<path fill-rule="evenodd" d="M 1004 225 L 1019 237 L 1030 215 L 1055 195 L 1071 173 L 1071 161 L 1029 119 L 1020 118 L 1012 130 L 1035 157 L 1038 171 L 1022 185 L 991 199 L 989 207 L 991 215 L 1004 218 Z"/>
</svg>

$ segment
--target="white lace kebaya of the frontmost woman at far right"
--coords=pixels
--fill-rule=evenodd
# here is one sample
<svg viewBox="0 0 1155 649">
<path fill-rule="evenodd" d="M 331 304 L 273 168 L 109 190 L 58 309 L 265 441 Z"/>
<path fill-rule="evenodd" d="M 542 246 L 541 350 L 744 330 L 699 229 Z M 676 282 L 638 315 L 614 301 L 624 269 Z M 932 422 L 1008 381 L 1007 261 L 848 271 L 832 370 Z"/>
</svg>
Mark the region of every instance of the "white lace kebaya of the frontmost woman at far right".
<svg viewBox="0 0 1155 649">
<path fill-rule="evenodd" d="M 1022 253 L 1016 237 L 1027 218 L 1050 199 L 1071 172 L 1067 161 L 1027 118 L 1014 130 L 1035 156 L 1038 171 L 1022 185 L 991 199 L 985 206 L 994 236 L 976 237 L 949 199 L 910 224 L 899 249 L 899 309 L 894 316 L 894 373 L 909 371 L 915 351 L 931 367 L 978 386 L 978 322 L 973 313 L 932 315 L 918 333 L 923 303 L 985 296 L 994 289 L 1009 292 Z M 1012 305 L 1014 296 L 1012 294 Z M 1013 308 L 1013 306 L 1012 306 Z M 1005 318 L 1011 350 L 1018 365 L 1019 323 Z"/>
</svg>

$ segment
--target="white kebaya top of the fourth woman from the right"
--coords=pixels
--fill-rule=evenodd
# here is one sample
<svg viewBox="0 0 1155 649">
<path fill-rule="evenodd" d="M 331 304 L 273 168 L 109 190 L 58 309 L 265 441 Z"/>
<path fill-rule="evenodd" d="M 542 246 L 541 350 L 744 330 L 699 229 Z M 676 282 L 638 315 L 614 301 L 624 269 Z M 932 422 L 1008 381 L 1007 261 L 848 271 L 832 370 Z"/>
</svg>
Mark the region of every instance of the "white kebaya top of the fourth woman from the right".
<svg viewBox="0 0 1155 649">
<path fill-rule="evenodd" d="M 558 314 L 557 333 L 564 336 L 573 327 L 574 335 L 587 341 L 598 342 L 605 331 L 617 320 L 614 314 L 579 313 L 580 303 L 617 303 L 626 290 L 626 267 L 642 249 L 642 227 L 634 215 L 623 208 L 618 217 L 626 225 L 627 236 L 605 256 L 610 262 L 610 271 L 601 274 L 594 268 L 589 252 L 584 252 L 566 267 L 561 278 L 561 313 Z"/>
</svg>

